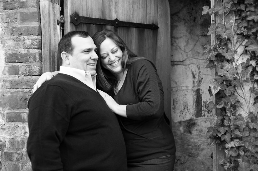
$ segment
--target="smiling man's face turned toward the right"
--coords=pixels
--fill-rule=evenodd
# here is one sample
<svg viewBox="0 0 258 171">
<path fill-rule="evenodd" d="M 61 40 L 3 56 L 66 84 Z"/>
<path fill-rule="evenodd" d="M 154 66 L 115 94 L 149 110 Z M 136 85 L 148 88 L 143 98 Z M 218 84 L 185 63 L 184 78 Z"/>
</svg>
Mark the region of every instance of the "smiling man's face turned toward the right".
<svg viewBox="0 0 258 171">
<path fill-rule="evenodd" d="M 70 67 L 89 71 L 91 76 L 96 74 L 98 55 L 97 47 L 90 36 L 72 38 L 73 52 L 69 54 Z"/>
</svg>

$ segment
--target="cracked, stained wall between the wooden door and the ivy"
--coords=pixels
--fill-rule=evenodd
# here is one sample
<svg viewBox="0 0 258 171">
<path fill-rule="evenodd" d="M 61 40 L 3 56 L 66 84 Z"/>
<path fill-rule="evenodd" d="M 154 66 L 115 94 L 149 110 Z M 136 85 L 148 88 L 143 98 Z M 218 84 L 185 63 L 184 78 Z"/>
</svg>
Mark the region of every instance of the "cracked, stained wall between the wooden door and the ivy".
<svg viewBox="0 0 258 171">
<path fill-rule="evenodd" d="M 212 170 L 207 82 L 211 71 L 202 56 L 210 17 L 202 15 L 209 0 L 169 0 L 171 23 L 171 117 L 176 141 L 175 171 Z"/>
</svg>

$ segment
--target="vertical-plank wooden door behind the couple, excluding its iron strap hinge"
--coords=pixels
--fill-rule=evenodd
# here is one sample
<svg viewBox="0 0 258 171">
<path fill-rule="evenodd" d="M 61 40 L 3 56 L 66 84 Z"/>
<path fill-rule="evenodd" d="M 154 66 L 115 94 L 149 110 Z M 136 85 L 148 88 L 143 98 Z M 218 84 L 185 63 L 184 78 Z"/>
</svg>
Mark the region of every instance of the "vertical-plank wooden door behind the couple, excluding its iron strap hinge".
<svg viewBox="0 0 258 171">
<path fill-rule="evenodd" d="M 70 22 L 70 15 L 107 20 L 155 24 L 157 30 Z M 158 69 L 164 88 L 165 112 L 171 120 L 170 97 L 170 12 L 167 0 L 64 0 L 64 34 L 69 31 L 116 31 L 137 55 L 152 60 Z"/>
</svg>

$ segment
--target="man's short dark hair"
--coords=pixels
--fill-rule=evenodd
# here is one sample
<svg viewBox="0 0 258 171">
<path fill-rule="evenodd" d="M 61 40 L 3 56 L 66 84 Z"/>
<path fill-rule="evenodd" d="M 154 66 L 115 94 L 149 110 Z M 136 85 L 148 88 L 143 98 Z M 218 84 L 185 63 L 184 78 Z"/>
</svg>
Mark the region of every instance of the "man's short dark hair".
<svg viewBox="0 0 258 171">
<path fill-rule="evenodd" d="M 72 38 L 74 36 L 86 38 L 89 36 L 87 31 L 70 31 L 66 35 L 62 37 L 62 39 L 58 43 L 58 56 L 59 56 L 59 63 L 62 65 L 62 52 L 67 52 L 73 55 L 74 46 L 72 45 Z"/>
</svg>

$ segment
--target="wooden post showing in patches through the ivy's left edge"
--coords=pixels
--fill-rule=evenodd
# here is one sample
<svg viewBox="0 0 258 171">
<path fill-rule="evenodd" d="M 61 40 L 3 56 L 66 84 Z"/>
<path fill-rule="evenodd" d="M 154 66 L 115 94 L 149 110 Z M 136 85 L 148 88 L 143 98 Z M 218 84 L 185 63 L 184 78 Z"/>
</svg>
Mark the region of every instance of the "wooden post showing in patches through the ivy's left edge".
<svg viewBox="0 0 258 171">
<path fill-rule="evenodd" d="M 214 7 L 215 1 L 210 1 L 210 7 Z M 211 15 L 211 23 L 218 23 L 218 17 L 215 17 L 214 14 Z M 215 34 L 211 34 L 211 45 L 215 45 Z M 212 78 L 215 78 L 215 69 L 211 71 Z M 216 95 L 212 96 L 212 101 L 216 103 Z M 212 113 L 218 115 L 218 110 L 213 109 Z M 213 171 L 224 171 L 225 169 L 219 164 L 221 158 L 225 158 L 225 151 L 220 150 L 218 144 L 213 146 Z"/>
</svg>

